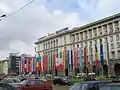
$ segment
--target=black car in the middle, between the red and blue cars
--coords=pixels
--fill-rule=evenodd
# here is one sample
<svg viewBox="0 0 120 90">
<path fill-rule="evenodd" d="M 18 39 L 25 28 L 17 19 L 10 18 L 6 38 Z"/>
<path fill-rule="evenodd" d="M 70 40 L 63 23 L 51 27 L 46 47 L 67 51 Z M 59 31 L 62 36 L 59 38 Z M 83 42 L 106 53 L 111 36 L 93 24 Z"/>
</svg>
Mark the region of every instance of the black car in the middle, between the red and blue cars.
<svg viewBox="0 0 120 90">
<path fill-rule="evenodd" d="M 53 84 L 59 84 L 59 85 L 71 85 L 71 80 L 68 77 L 56 77 L 53 80 Z"/>
</svg>

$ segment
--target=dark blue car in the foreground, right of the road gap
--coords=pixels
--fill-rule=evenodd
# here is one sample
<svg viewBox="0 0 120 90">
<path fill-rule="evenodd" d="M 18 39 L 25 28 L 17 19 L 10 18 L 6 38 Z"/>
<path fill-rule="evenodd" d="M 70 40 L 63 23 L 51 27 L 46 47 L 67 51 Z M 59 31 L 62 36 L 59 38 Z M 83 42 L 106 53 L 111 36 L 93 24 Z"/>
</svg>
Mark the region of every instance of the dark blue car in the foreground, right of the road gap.
<svg viewBox="0 0 120 90">
<path fill-rule="evenodd" d="M 75 83 L 69 90 L 98 90 L 100 86 L 106 84 L 107 81 L 86 81 Z"/>
</svg>

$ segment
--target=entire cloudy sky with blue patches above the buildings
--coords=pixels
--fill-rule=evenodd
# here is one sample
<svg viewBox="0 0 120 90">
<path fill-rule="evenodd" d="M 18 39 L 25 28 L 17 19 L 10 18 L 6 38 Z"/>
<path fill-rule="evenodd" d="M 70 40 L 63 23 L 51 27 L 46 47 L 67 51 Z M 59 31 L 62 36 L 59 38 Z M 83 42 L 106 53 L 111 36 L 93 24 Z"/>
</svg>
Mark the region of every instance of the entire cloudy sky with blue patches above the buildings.
<svg viewBox="0 0 120 90">
<path fill-rule="evenodd" d="M 30 0 L 0 0 L 0 15 L 10 15 Z M 72 29 L 120 12 L 120 0 L 34 0 L 1 18 L 0 60 L 9 53 L 35 55 L 38 38 L 64 27 Z"/>
</svg>

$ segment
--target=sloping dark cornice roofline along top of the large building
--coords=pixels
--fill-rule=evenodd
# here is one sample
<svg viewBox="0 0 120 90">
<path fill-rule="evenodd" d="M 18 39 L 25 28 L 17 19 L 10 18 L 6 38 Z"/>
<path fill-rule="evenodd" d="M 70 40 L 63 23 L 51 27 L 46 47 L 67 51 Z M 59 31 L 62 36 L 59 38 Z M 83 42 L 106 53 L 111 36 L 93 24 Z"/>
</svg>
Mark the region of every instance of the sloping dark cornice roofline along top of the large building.
<svg viewBox="0 0 120 90">
<path fill-rule="evenodd" d="M 66 33 L 73 33 L 73 32 L 76 32 L 78 30 L 82 30 L 82 29 L 86 29 L 86 28 L 89 28 L 91 26 L 94 26 L 94 25 L 97 25 L 97 24 L 100 24 L 100 23 L 103 23 L 103 22 L 107 22 L 109 20 L 112 20 L 112 19 L 115 19 L 115 18 L 119 18 L 120 17 L 120 13 L 117 13 L 117 14 L 114 14 L 114 15 L 111 15 L 111 16 L 108 16 L 106 18 L 103 18 L 103 19 L 100 19 L 100 20 L 97 20 L 97 21 L 94 21 L 94 22 L 91 22 L 89 24 L 86 24 L 86 25 L 83 25 L 83 26 L 80 26 L 80 27 L 75 27 L 73 28 L 72 30 L 68 30 L 66 32 L 63 32 L 63 33 L 60 33 L 58 35 L 54 35 L 54 36 L 51 36 L 51 37 L 47 37 L 43 40 L 38 40 L 36 41 L 34 44 L 38 44 L 40 42 L 43 42 L 43 41 L 46 41 L 46 40 L 50 40 L 52 38 L 55 38 L 55 37 L 58 37 L 58 36 L 61 36 L 61 35 L 64 35 Z"/>
</svg>

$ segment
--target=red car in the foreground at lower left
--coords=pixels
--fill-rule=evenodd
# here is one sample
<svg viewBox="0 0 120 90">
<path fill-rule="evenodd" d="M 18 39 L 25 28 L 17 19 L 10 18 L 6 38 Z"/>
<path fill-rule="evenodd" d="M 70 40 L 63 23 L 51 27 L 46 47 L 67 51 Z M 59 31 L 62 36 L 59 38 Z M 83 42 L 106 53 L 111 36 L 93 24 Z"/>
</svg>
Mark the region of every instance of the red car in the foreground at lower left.
<svg viewBox="0 0 120 90">
<path fill-rule="evenodd" d="M 20 90 L 53 90 L 52 84 L 48 84 L 40 79 L 24 80 L 18 85 L 15 85 L 15 87 Z"/>
</svg>

